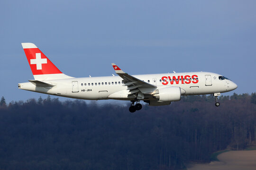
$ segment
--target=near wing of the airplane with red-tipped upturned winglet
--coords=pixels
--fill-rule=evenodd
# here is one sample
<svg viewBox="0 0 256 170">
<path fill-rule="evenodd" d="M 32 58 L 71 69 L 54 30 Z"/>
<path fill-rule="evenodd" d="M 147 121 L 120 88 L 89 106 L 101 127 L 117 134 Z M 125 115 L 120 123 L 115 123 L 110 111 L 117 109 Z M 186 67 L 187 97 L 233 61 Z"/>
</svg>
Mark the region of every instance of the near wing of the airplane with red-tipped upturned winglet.
<svg viewBox="0 0 256 170">
<path fill-rule="evenodd" d="M 146 83 L 145 81 L 142 81 L 134 76 L 131 76 L 125 72 L 123 72 L 116 64 L 112 63 L 113 68 L 116 71 L 116 74 L 118 74 L 120 77 L 123 78 L 123 85 L 127 86 L 127 90 L 129 90 L 129 95 L 138 93 L 137 96 L 143 96 L 143 93 L 146 93 L 149 91 L 153 92 L 157 87 L 155 85 L 151 85 L 149 83 Z M 148 89 L 148 90 L 143 90 Z M 137 97 L 138 98 L 138 97 Z M 138 98 L 140 99 L 140 97 Z"/>
</svg>

